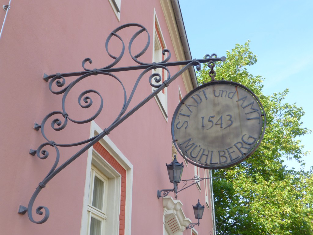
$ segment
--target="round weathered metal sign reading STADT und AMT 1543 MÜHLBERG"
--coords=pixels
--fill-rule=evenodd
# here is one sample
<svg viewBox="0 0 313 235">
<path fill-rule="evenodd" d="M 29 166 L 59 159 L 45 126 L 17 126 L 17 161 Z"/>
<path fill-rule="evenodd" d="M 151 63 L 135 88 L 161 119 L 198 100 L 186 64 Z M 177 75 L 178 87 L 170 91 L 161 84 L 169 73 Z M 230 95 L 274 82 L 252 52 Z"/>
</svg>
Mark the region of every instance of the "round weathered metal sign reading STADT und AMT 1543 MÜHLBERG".
<svg viewBox="0 0 313 235">
<path fill-rule="evenodd" d="M 172 138 L 191 164 L 222 169 L 254 153 L 265 123 L 262 104 L 252 91 L 236 82 L 213 81 L 179 103 L 172 118 Z"/>
</svg>

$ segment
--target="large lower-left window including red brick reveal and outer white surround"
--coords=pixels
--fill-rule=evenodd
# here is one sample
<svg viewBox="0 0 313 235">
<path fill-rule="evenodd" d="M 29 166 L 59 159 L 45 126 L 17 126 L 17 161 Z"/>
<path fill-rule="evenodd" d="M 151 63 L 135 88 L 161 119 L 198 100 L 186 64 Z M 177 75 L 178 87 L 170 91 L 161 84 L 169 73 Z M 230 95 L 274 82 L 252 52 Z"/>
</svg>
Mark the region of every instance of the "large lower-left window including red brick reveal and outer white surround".
<svg viewBox="0 0 313 235">
<path fill-rule="evenodd" d="M 103 130 L 91 122 L 90 138 Z M 131 233 L 133 165 L 105 136 L 88 149 L 80 235 Z"/>
</svg>

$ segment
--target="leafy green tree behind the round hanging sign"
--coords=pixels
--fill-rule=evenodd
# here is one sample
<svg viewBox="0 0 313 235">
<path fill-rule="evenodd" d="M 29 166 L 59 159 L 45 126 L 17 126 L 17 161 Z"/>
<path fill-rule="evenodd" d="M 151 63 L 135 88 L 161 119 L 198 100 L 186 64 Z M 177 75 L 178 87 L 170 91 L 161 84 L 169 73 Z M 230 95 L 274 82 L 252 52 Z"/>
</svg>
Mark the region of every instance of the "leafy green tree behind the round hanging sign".
<svg viewBox="0 0 313 235">
<path fill-rule="evenodd" d="M 216 80 L 247 86 L 260 99 L 267 119 L 262 143 L 244 162 L 213 170 L 216 222 L 223 222 L 230 234 L 312 235 L 313 171 L 287 170 L 284 159 L 302 162 L 305 155 L 297 137 L 310 132 L 302 127 L 302 108 L 284 102 L 288 89 L 266 96 L 262 76 L 246 68 L 257 62 L 249 41 L 227 51 L 225 62 L 217 62 Z M 208 65 L 198 72 L 200 84 L 211 81 Z M 302 162 L 302 164 L 304 164 Z"/>
</svg>

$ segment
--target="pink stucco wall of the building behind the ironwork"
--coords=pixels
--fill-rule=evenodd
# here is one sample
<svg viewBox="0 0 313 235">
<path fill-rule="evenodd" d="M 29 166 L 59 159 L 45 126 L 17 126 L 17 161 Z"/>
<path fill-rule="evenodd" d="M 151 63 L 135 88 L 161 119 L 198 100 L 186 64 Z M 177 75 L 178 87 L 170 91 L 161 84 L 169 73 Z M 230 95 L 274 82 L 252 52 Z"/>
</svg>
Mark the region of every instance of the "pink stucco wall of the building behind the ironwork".
<svg viewBox="0 0 313 235">
<path fill-rule="evenodd" d="M 2 4 L 7 3 L 3 1 Z M 54 163 L 53 149 L 50 149 L 51 153 L 45 160 L 28 154 L 29 149 L 37 149 L 45 142 L 41 133 L 33 129 L 33 124 L 41 123 L 49 112 L 61 110 L 62 95 L 52 94 L 42 76 L 44 73 L 82 71 L 81 61 L 86 57 L 93 60 L 91 65 L 86 64 L 88 68 L 108 65 L 112 59 L 105 52 L 107 35 L 122 24 L 139 23 L 147 28 L 152 37 L 154 8 L 167 49 L 172 52 L 170 61 L 176 61 L 158 0 L 122 0 L 120 21 L 116 19 L 106 0 L 11 2 L 0 39 L 0 234 L 80 234 L 87 153 L 55 176 L 37 197 L 33 209 L 41 205 L 47 206 L 50 210 L 47 222 L 34 224 L 28 220 L 27 214 L 17 213 L 19 205 L 27 206 L 38 183 Z M 1 9 L 1 24 L 4 14 L 5 11 Z M 126 30 L 121 34 L 126 41 L 132 36 L 129 33 Z M 137 45 L 140 44 L 141 41 Z M 114 50 L 117 49 L 113 48 L 112 51 Z M 127 55 L 126 48 L 126 57 Z M 152 39 L 149 49 L 140 60 L 151 62 Z M 127 57 L 118 66 L 129 65 L 135 64 Z M 178 69 L 171 68 L 171 74 Z M 138 75 L 138 71 L 119 75 L 128 96 Z M 92 76 L 77 86 L 77 94 L 83 89 L 95 89 L 102 93 L 105 107 L 95 120 L 102 129 L 107 128 L 115 119 L 119 112 L 116 107 L 120 108 L 122 102 L 121 88 L 118 88 L 115 81 L 107 82 L 105 78 Z M 186 94 L 182 78 L 168 87 L 168 122 L 163 118 L 155 99 L 152 99 L 109 134 L 110 139 L 134 166 L 131 234 L 163 234 L 162 199 L 157 199 L 156 191 L 172 187 L 165 163 L 170 163 L 172 157 L 170 124 L 178 104 L 178 86 L 182 95 Z M 143 79 L 137 89 L 131 107 L 151 93 L 147 79 Z M 86 114 L 80 109 L 72 108 L 77 107 L 75 95 L 69 98 L 66 107 L 70 115 L 80 119 Z M 60 133 L 48 133 L 55 142 L 69 143 L 89 138 L 89 132 L 90 124 L 81 124 L 69 125 Z M 77 150 L 77 147 L 60 148 L 60 163 Z M 178 160 L 182 162 L 181 157 Z M 200 177 L 203 177 L 203 170 L 201 174 Z M 189 164 L 185 167 L 182 178 L 191 178 L 193 175 L 194 167 Z M 203 184 L 202 187 L 204 189 Z M 170 195 L 174 197 L 173 194 Z M 202 204 L 205 203 L 204 191 L 200 193 L 196 186 L 192 186 L 178 196 L 184 204 L 186 217 L 196 222 L 192 205 L 198 199 Z M 40 219 L 40 216 L 35 218 Z M 212 231 L 211 211 L 205 210 L 200 226 L 196 229 L 199 234 Z M 189 235 L 191 231 L 185 230 L 184 234 Z"/>
</svg>

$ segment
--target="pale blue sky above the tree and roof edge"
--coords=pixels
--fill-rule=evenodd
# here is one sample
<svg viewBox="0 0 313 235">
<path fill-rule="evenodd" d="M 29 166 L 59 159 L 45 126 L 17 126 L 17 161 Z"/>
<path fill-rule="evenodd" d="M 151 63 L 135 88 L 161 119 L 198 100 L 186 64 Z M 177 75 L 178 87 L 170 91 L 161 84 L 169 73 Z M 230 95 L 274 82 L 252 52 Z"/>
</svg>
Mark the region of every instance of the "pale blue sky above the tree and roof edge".
<svg viewBox="0 0 313 235">
<path fill-rule="evenodd" d="M 305 111 L 303 127 L 313 130 L 313 1 L 180 0 L 192 58 L 206 54 L 225 56 L 236 43 L 250 40 L 258 62 L 249 66 L 254 76 L 265 78 L 263 92 L 289 88 L 285 99 Z M 301 136 L 312 150 L 313 134 Z M 313 153 L 303 157 L 305 170 L 313 166 Z M 295 161 L 288 167 L 300 169 Z"/>
</svg>

